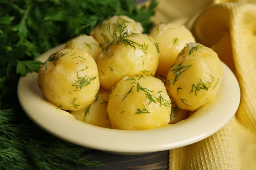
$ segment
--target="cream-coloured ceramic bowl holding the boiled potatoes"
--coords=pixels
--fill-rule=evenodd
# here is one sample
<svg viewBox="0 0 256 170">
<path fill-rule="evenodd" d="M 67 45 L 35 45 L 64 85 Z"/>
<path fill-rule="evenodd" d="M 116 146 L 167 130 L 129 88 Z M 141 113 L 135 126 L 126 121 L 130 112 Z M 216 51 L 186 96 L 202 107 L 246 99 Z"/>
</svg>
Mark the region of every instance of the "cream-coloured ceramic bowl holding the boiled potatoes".
<svg viewBox="0 0 256 170">
<path fill-rule="evenodd" d="M 64 48 L 57 46 L 38 57 L 44 62 Z M 38 74 L 20 78 L 18 99 L 25 113 L 42 129 L 67 142 L 117 154 L 142 154 L 170 150 L 198 142 L 217 132 L 234 116 L 240 102 L 236 77 L 222 63 L 223 81 L 216 99 L 175 125 L 152 130 L 115 130 L 76 120 L 41 96 Z"/>
</svg>

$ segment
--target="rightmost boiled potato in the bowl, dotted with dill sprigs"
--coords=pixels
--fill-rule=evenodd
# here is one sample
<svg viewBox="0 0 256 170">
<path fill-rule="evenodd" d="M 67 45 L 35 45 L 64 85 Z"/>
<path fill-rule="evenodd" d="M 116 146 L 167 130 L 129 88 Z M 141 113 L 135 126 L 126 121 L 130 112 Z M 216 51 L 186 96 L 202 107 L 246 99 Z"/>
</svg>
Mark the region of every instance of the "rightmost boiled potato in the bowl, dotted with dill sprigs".
<svg viewBox="0 0 256 170">
<path fill-rule="evenodd" d="M 167 88 L 179 108 L 195 111 L 215 97 L 221 81 L 218 55 L 211 48 L 189 42 L 170 68 Z"/>
</svg>

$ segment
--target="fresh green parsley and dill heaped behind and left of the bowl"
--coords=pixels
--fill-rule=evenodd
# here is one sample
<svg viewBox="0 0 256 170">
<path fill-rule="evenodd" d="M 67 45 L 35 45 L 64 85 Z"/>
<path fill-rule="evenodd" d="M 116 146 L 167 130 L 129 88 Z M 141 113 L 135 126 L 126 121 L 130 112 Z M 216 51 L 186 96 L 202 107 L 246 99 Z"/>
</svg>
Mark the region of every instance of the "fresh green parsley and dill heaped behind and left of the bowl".
<svg viewBox="0 0 256 170">
<path fill-rule="evenodd" d="M 147 33 L 155 0 L 137 8 L 135 0 L 1 0 L 0 1 L 0 170 L 72 170 L 102 166 L 82 157 L 84 148 L 41 130 L 20 108 L 17 82 L 38 71 L 43 52 L 80 34 L 89 34 L 113 15 L 127 15 Z M 4 106 L 4 107 L 3 107 Z"/>
</svg>

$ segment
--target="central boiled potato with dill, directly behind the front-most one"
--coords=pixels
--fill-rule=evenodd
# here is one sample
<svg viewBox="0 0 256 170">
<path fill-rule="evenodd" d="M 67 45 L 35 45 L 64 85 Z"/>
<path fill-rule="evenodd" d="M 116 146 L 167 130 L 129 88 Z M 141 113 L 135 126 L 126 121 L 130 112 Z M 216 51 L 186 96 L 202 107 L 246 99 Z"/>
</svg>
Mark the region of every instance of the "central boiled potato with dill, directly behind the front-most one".
<svg viewBox="0 0 256 170">
<path fill-rule="evenodd" d="M 106 90 L 111 90 L 125 76 L 154 76 L 157 70 L 159 54 L 153 39 L 149 39 L 147 35 L 136 34 L 122 41 L 126 40 L 132 45 L 111 43 L 108 50 L 99 55 L 99 80 Z"/>
</svg>

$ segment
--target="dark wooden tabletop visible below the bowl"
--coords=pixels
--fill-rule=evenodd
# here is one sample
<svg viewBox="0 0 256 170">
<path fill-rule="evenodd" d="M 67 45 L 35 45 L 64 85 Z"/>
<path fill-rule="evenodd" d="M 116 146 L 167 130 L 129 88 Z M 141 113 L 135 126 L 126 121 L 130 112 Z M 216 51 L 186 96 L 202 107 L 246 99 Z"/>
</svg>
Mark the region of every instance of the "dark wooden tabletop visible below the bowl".
<svg viewBox="0 0 256 170">
<path fill-rule="evenodd" d="M 115 155 L 98 150 L 87 149 L 84 156 L 91 156 L 91 161 L 101 161 L 103 167 L 79 167 L 79 170 L 168 170 L 169 151 L 144 155 Z"/>
</svg>

